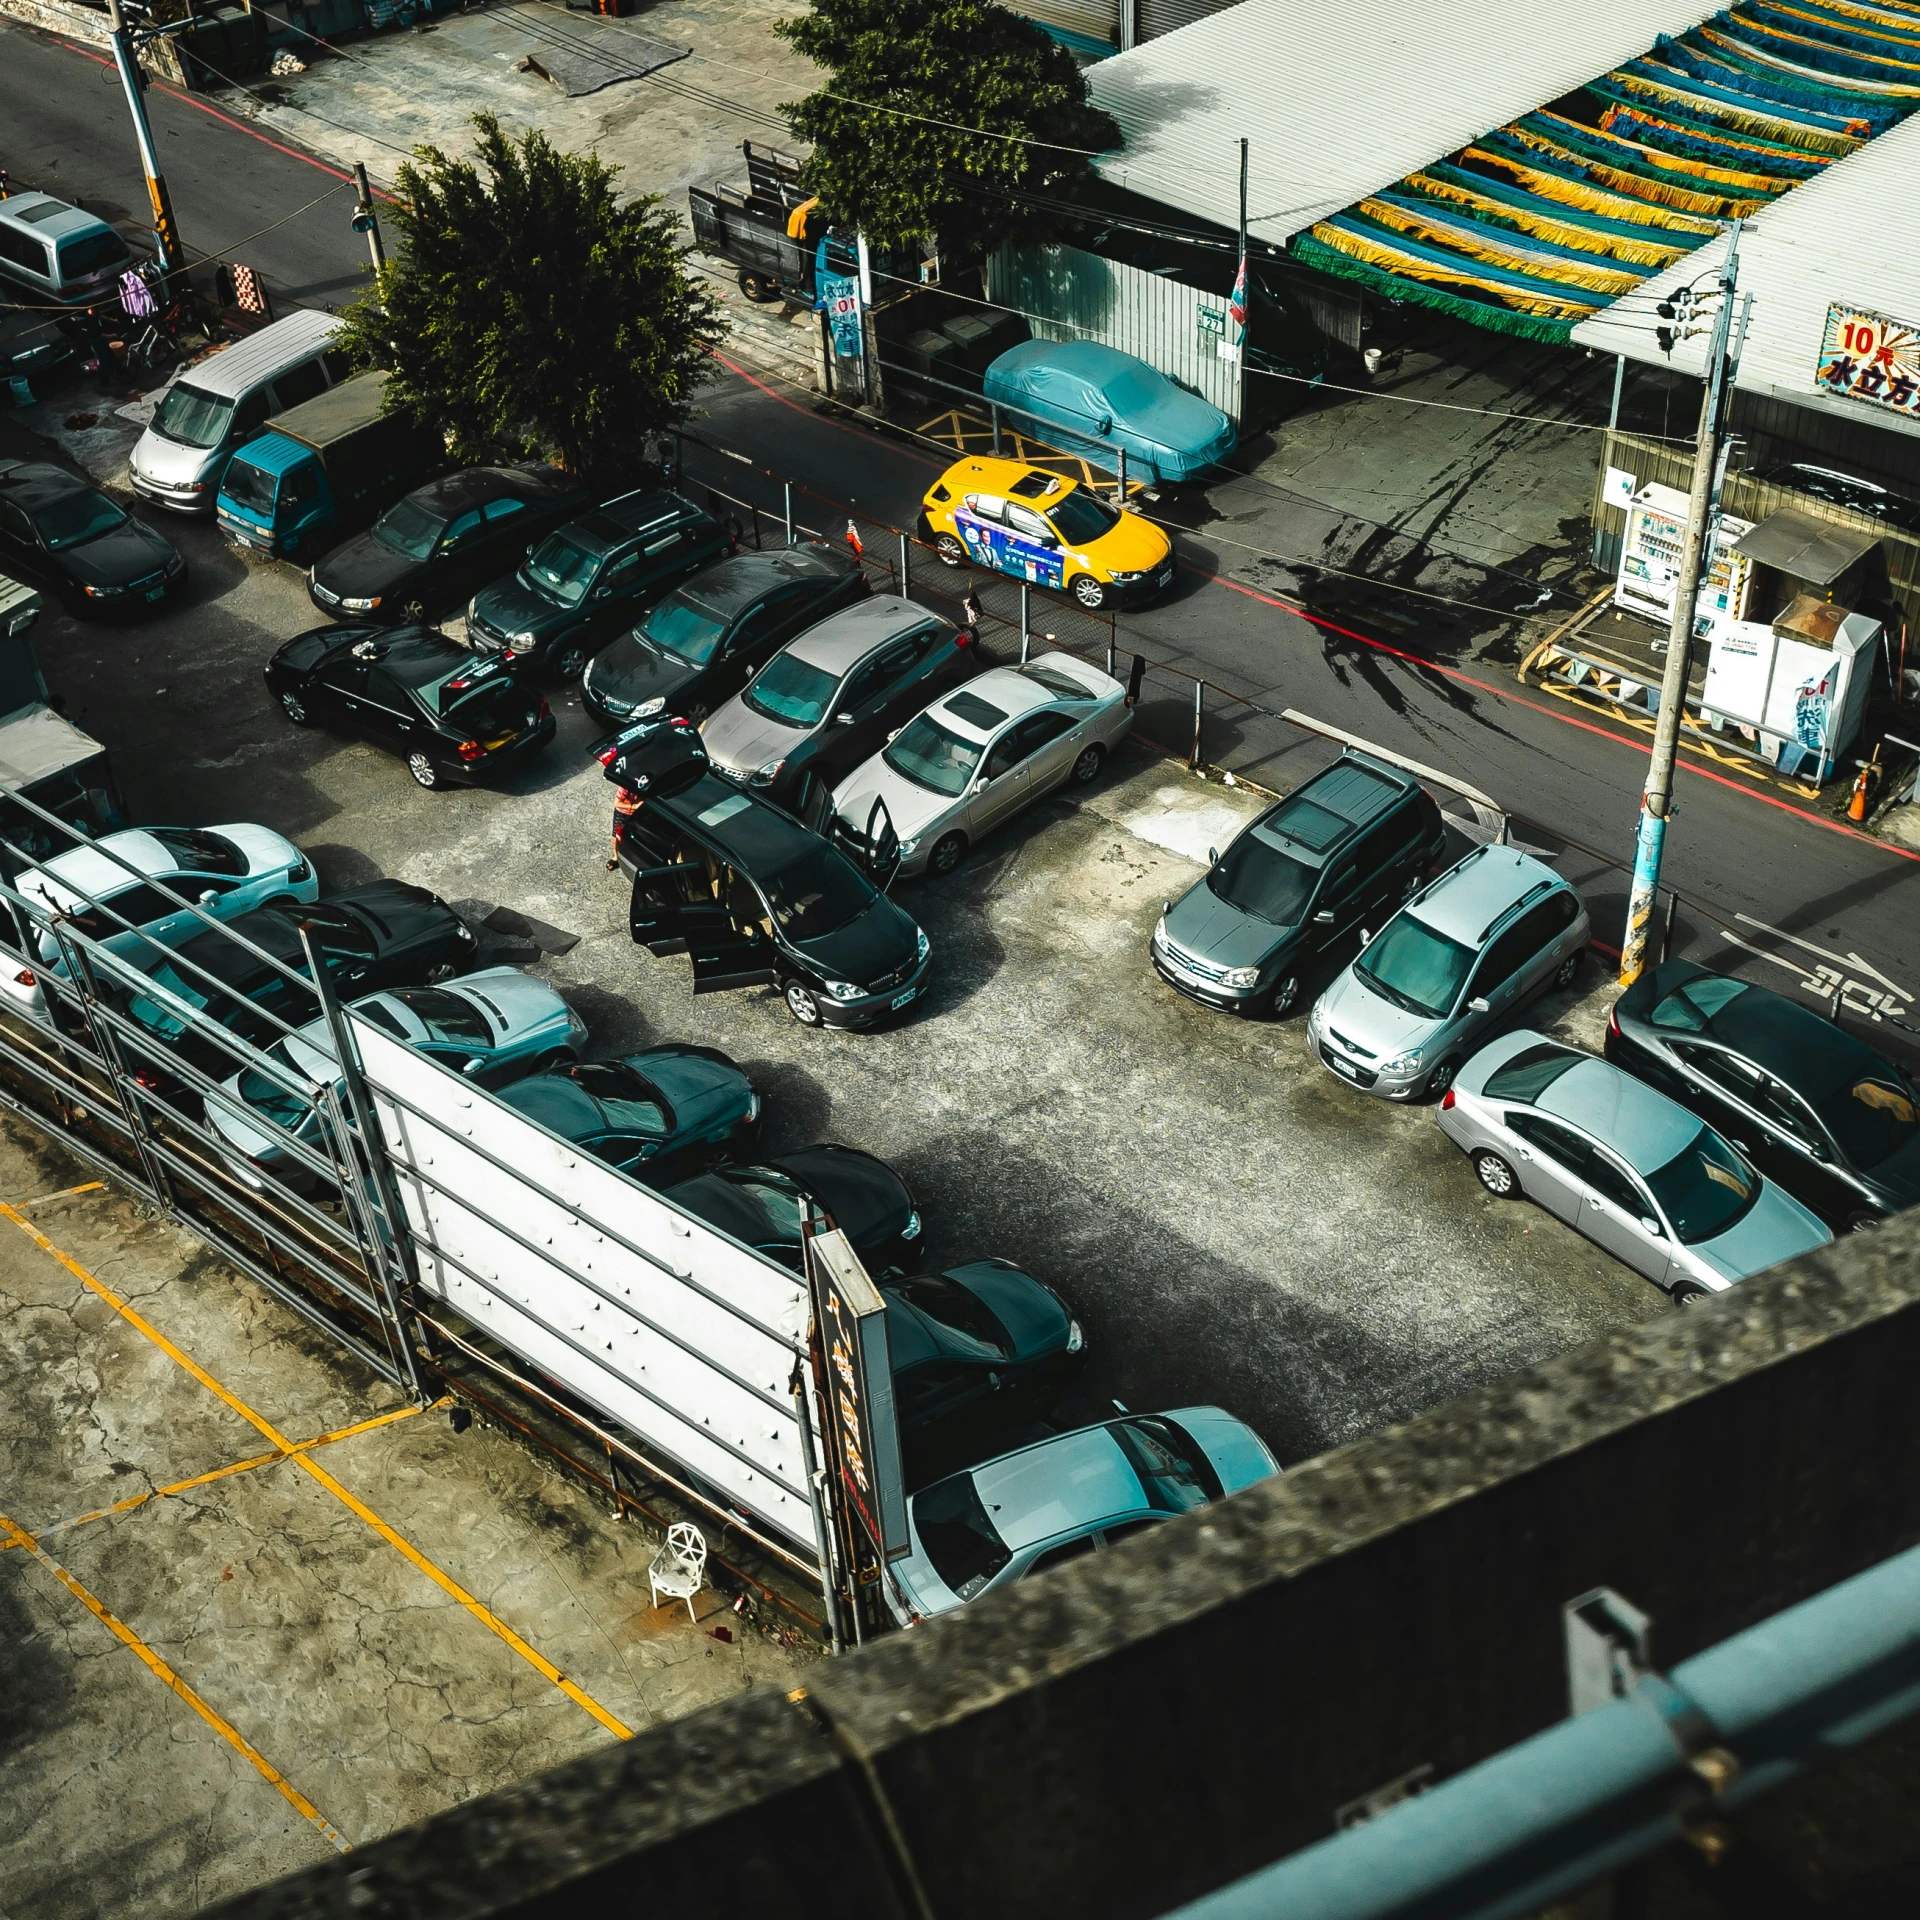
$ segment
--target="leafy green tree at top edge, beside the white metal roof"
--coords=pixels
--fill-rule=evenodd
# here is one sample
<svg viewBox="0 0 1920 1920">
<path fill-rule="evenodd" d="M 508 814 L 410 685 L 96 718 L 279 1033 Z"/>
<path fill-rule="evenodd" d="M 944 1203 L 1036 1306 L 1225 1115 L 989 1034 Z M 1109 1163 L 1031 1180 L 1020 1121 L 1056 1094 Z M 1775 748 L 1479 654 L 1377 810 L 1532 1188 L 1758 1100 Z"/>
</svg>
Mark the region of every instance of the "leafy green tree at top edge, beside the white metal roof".
<svg viewBox="0 0 1920 1920">
<path fill-rule="evenodd" d="M 973 253 L 1044 230 L 1004 196 L 1058 194 L 1119 146 L 1073 56 L 993 0 L 814 0 L 774 31 L 831 75 L 781 108 L 814 142 L 806 186 L 876 246 Z"/>
</svg>

